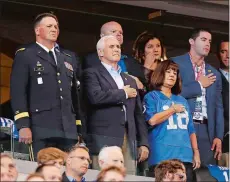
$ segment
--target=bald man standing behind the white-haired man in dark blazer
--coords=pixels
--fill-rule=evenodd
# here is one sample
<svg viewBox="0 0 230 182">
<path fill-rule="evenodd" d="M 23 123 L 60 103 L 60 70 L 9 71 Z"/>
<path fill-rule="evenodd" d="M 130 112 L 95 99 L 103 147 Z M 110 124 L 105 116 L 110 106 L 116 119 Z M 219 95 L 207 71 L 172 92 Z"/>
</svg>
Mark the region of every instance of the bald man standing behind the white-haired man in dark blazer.
<svg viewBox="0 0 230 182">
<path fill-rule="evenodd" d="M 123 30 L 119 23 L 111 21 L 102 25 L 100 37 L 106 35 L 113 35 L 117 38 L 120 45 L 123 44 Z M 97 52 L 94 52 L 85 57 L 82 62 L 82 66 L 83 69 L 86 69 L 100 65 L 100 63 L 101 60 L 98 58 Z M 143 89 L 142 83 L 145 81 L 144 70 L 137 60 L 122 54 L 118 65 L 121 67 L 121 72 L 125 72 L 133 76 L 136 80 L 138 89 Z"/>
</svg>

